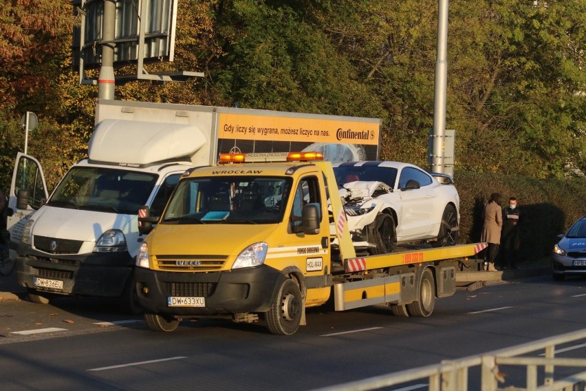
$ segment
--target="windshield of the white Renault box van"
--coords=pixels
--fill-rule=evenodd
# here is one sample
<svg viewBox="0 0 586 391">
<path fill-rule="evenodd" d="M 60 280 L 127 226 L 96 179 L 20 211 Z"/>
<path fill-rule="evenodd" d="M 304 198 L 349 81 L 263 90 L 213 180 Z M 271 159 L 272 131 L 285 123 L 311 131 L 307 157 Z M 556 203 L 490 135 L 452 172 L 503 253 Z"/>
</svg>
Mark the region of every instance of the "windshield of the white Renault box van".
<svg viewBox="0 0 586 391">
<path fill-rule="evenodd" d="M 146 204 L 157 175 L 102 167 L 74 167 L 59 183 L 47 205 L 135 215 Z"/>
</svg>

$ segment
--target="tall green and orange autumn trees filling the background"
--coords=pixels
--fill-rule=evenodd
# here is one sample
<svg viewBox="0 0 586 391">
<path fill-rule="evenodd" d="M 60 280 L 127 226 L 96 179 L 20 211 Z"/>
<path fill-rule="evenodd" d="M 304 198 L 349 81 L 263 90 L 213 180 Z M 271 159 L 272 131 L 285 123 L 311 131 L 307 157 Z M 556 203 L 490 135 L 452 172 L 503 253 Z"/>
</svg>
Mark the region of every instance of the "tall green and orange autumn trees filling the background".
<svg viewBox="0 0 586 391">
<path fill-rule="evenodd" d="M 129 0 L 128 0 L 129 1 Z M 453 0 L 447 127 L 456 170 L 547 178 L 586 172 L 586 0 Z M 72 67 L 69 1 L 0 8 L 0 186 L 29 153 L 52 187 L 83 158 L 97 87 Z M 179 0 L 175 62 L 204 78 L 116 87 L 116 99 L 382 118 L 381 158 L 426 166 L 437 3 Z M 128 74 L 129 70 L 117 70 Z M 133 71 L 135 72 L 135 71 Z"/>
</svg>

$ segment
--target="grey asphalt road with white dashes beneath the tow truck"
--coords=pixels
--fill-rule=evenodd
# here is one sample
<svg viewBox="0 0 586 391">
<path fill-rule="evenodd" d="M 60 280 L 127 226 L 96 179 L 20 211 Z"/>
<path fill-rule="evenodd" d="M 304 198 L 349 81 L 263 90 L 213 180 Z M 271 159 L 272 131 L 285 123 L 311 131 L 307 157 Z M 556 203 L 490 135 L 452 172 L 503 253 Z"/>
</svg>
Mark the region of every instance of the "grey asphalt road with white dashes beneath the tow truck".
<svg viewBox="0 0 586 391">
<path fill-rule="evenodd" d="M 586 328 L 586 279 L 520 279 L 439 299 L 431 317 L 309 310 L 296 335 L 184 321 L 171 333 L 100 299 L 0 302 L 2 390 L 312 390 Z M 48 329 L 48 330 L 47 330 Z M 43 332 L 39 332 L 43 330 Z M 570 350 L 585 357 L 586 348 Z M 504 384 L 501 386 L 506 386 Z"/>
</svg>

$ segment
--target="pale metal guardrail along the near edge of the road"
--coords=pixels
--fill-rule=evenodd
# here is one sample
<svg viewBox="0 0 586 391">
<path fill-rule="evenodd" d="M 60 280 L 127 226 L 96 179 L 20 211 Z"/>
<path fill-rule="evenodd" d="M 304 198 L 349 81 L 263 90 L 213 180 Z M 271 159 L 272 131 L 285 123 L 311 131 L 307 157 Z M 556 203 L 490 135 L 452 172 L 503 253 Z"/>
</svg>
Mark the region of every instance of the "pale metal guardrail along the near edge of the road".
<svg viewBox="0 0 586 391">
<path fill-rule="evenodd" d="M 576 372 L 564 379 L 554 379 L 556 367 L 586 368 L 586 359 L 565 359 L 555 357 L 556 346 L 586 339 L 586 329 L 569 332 L 556 337 L 539 339 L 505 348 L 494 350 L 482 355 L 464 357 L 458 360 L 442 361 L 442 363 L 403 370 L 377 377 L 371 377 L 350 383 L 319 388 L 314 391 L 362 391 L 377 390 L 393 385 L 404 385 L 411 381 L 427 379 L 429 391 L 468 391 L 470 368 L 480 368 L 480 381 L 475 383 L 472 390 L 481 391 L 584 391 L 586 390 L 586 372 Z M 543 350 L 543 357 L 523 357 L 530 352 Z M 499 388 L 503 383 L 503 373 L 499 372 L 501 366 L 521 366 L 526 368 L 525 385 L 507 388 Z M 539 371 L 539 368 L 542 368 Z M 539 377 L 543 382 L 539 385 Z"/>
</svg>

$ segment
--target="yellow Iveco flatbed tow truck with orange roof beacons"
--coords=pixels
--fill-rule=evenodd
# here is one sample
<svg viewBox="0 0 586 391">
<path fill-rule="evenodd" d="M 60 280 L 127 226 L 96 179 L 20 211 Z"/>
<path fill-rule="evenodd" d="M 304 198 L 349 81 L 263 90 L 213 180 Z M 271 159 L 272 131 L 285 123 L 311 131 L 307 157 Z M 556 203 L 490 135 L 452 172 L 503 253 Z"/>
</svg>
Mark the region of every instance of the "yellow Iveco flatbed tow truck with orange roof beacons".
<svg viewBox="0 0 586 391">
<path fill-rule="evenodd" d="M 415 317 L 453 295 L 457 262 L 486 244 L 357 255 L 332 165 L 321 158 L 221 154 L 218 165 L 184 173 L 160 217 L 140 209 L 139 230 L 150 233 L 135 284 L 149 327 L 224 315 L 292 335 L 305 308 L 332 292 L 336 310 L 384 305 Z"/>
</svg>

